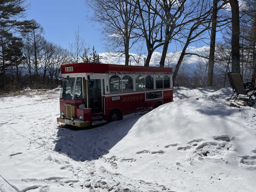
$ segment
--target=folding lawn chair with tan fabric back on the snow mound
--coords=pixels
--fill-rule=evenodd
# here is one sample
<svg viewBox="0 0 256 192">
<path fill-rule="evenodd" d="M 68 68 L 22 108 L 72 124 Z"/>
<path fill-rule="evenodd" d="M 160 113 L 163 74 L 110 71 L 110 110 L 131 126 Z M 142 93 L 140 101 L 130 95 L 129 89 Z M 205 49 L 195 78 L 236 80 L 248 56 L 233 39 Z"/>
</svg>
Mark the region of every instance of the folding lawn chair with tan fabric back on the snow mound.
<svg viewBox="0 0 256 192">
<path fill-rule="evenodd" d="M 236 99 L 237 99 L 239 94 L 246 95 L 246 96 L 240 96 L 240 97 L 249 97 L 245 106 L 247 105 L 248 101 L 250 99 L 252 99 L 252 96 L 254 96 L 254 98 L 256 99 L 256 87 L 253 87 L 251 89 L 246 90 L 245 87 L 244 87 L 244 84 L 243 84 L 243 81 L 241 79 L 240 74 L 231 73 L 231 77 L 232 77 L 232 80 L 233 80 L 233 83 L 234 83 L 234 86 L 235 86 L 235 90 L 236 90 L 236 96 L 235 96 Z M 236 99 L 235 99 L 234 102 L 236 102 Z"/>
</svg>

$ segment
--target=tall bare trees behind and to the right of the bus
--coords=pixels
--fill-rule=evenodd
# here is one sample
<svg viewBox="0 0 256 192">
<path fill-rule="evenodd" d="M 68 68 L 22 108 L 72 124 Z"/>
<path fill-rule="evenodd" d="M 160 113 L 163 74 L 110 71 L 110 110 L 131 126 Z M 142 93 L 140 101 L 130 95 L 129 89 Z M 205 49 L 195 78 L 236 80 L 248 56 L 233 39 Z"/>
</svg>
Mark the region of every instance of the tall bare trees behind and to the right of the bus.
<svg viewBox="0 0 256 192">
<path fill-rule="evenodd" d="M 237 0 L 86 0 L 86 4 L 94 12 L 88 17 L 101 24 L 108 52 L 124 55 L 125 65 L 130 60 L 140 63 L 140 56 L 146 55 L 149 66 L 153 52 L 160 52 L 156 65 L 168 67 L 172 61 L 168 49 L 176 44 L 181 49 L 178 61 L 171 63 L 176 86 L 222 87 L 228 71 L 241 72 L 244 79 L 249 76 L 255 82 L 255 0 L 240 4 Z M 223 38 L 216 41 L 220 32 Z M 207 54 L 187 51 L 189 46 L 205 44 L 210 47 Z M 138 57 L 130 53 L 132 47 L 137 47 Z M 184 68 L 189 55 L 199 57 L 196 69 Z M 183 76 L 184 70 L 190 73 Z"/>
</svg>

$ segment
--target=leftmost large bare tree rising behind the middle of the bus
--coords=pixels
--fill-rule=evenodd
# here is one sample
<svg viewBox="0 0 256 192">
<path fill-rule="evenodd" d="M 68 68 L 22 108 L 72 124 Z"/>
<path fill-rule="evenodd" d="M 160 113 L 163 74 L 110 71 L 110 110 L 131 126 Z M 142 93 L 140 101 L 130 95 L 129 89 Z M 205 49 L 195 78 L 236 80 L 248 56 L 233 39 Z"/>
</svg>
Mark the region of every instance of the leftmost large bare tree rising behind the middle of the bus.
<svg viewBox="0 0 256 192">
<path fill-rule="evenodd" d="M 107 51 L 112 56 L 125 55 L 125 65 L 128 65 L 132 56 L 129 49 L 139 39 L 134 33 L 138 18 L 138 14 L 135 14 L 137 1 L 133 4 L 133 0 L 87 0 L 86 3 L 94 11 L 90 20 L 101 24 L 102 34 L 107 40 Z"/>
</svg>

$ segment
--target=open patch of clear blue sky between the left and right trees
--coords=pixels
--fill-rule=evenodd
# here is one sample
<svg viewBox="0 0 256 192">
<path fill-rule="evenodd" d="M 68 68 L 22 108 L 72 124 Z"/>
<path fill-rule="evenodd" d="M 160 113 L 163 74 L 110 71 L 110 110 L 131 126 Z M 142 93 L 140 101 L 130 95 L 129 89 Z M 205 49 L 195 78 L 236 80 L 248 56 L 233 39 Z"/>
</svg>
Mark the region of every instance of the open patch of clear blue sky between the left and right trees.
<svg viewBox="0 0 256 192">
<path fill-rule="evenodd" d="M 88 10 L 84 0 L 28 0 L 30 8 L 26 19 L 35 19 L 44 28 L 46 40 L 68 49 L 74 41 L 74 32 L 79 26 L 79 34 L 87 45 L 97 52 L 105 52 L 101 32 L 97 24 L 86 19 Z M 89 13 L 90 14 L 90 13 Z"/>
</svg>

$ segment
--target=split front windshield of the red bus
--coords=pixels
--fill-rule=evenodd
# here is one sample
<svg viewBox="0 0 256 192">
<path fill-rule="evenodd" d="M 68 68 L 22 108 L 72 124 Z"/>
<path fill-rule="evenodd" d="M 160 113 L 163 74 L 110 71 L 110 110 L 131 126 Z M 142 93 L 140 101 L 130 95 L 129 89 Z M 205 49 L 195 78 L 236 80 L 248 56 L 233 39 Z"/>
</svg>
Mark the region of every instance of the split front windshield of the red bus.
<svg viewBox="0 0 256 192">
<path fill-rule="evenodd" d="M 72 99 L 75 84 L 75 77 L 63 78 L 61 85 L 60 98 Z M 82 79 L 78 77 L 76 80 L 75 99 L 83 98 L 82 94 Z"/>
</svg>

